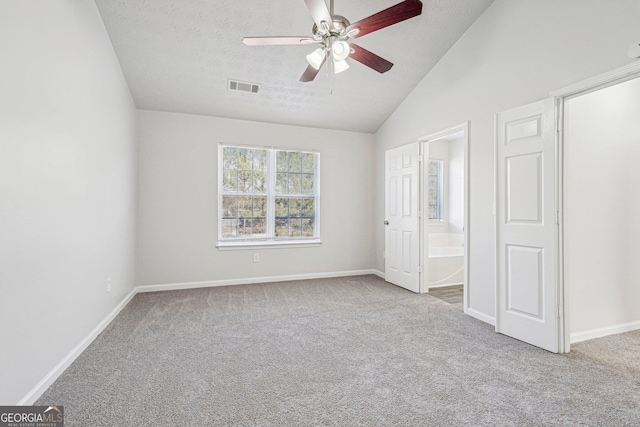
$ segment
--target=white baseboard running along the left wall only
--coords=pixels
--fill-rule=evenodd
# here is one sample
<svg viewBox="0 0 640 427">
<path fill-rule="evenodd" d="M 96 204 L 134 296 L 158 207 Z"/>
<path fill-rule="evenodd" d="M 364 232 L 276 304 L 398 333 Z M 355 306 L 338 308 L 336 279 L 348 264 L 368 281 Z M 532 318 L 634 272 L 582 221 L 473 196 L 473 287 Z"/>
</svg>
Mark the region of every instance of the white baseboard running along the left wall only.
<svg viewBox="0 0 640 427">
<path fill-rule="evenodd" d="M 106 329 L 107 326 L 116 318 L 116 316 L 122 311 L 123 308 L 129 304 L 129 301 L 133 299 L 133 297 L 137 294 L 137 289 L 134 288 L 129 294 L 124 297 L 124 299 L 118 304 L 111 312 L 102 319 L 98 325 L 93 328 L 91 332 L 82 340 L 78 345 L 76 345 L 73 350 L 69 352 L 47 375 L 44 376 L 42 380 L 38 384 L 35 385 L 27 393 L 17 405 L 33 405 L 33 403 L 38 400 L 42 394 L 47 391 L 47 389 L 58 379 L 60 375 L 67 369 L 77 358 L 82 354 L 82 352 L 89 347 L 89 345 L 95 340 L 98 335 L 102 333 Z"/>
</svg>

